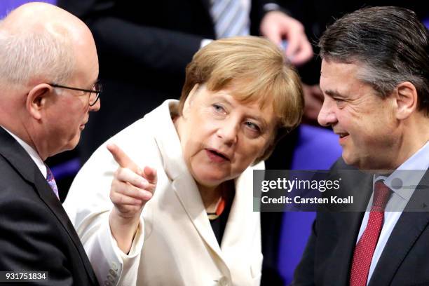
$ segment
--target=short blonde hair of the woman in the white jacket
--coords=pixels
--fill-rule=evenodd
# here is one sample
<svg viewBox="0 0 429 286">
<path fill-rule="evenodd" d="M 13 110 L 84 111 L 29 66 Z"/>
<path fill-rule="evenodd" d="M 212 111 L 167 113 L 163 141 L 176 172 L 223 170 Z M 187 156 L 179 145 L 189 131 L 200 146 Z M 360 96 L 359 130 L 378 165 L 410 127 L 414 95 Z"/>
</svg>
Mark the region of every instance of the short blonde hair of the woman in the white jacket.
<svg viewBox="0 0 429 286">
<path fill-rule="evenodd" d="M 271 155 L 275 144 L 301 122 L 304 95 L 301 81 L 285 55 L 274 43 L 257 36 L 240 36 L 212 41 L 198 50 L 186 67 L 186 80 L 179 101 L 184 102 L 196 84 L 208 90 L 233 90 L 240 102 L 260 102 L 261 108 L 273 105 L 277 128 L 264 154 Z"/>
</svg>

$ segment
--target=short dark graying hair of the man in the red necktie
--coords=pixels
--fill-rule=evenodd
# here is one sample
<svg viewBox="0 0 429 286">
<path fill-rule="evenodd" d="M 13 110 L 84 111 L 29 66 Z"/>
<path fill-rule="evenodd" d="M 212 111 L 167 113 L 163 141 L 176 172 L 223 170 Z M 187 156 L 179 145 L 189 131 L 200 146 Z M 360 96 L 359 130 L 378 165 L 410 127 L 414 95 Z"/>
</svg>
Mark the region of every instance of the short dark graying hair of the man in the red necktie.
<svg viewBox="0 0 429 286">
<path fill-rule="evenodd" d="M 413 11 L 362 8 L 328 27 L 319 47 L 322 59 L 361 64 L 359 79 L 381 97 L 404 81 L 413 83 L 418 109 L 429 115 L 429 33 Z"/>
</svg>

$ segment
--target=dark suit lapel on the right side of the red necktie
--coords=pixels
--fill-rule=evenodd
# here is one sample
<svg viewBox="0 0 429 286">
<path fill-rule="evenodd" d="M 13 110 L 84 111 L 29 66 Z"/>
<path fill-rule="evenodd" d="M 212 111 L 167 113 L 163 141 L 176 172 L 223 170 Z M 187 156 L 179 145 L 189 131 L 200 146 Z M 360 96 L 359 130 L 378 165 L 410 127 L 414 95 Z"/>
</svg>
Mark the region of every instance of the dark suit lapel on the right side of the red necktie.
<svg viewBox="0 0 429 286">
<path fill-rule="evenodd" d="M 390 285 L 397 268 L 407 257 L 412 245 L 429 224 L 429 170 L 416 187 L 400 219 L 398 219 L 379 262 L 374 269 L 370 286 Z"/>
</svg>

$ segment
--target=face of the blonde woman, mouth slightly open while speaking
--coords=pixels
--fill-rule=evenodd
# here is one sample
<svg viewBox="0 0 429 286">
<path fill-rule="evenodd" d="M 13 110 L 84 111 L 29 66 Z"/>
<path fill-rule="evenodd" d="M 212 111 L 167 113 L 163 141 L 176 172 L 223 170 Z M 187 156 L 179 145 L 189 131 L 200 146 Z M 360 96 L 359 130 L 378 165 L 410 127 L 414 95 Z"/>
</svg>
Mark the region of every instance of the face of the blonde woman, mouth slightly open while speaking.
<svg viewBox="0 0 429 286">
<path fill-rule="evenodd" d="M 175 125 L 184 160 L 199 186 L 215 188 L 238 177 L 273 137 L 273 107 L 238 102 L 231 90 L 196 86 Z"/>
</svg>

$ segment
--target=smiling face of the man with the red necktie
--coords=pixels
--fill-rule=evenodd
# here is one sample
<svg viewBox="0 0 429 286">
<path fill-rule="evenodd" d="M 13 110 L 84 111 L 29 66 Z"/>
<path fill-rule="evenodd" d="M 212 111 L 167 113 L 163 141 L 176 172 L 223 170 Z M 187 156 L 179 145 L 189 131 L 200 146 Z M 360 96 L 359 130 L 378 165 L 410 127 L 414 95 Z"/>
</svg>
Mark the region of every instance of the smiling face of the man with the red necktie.
<svg viewBox="0 0 429 286">
<path fill-rule="evenodd" d="M 318 116 L 320 125 L 332 126 L 348 165 L 364 169 L 396 168 L 400 128 L 393 96 L 382 99 L 358 80 L 357 64 L 322 60 L 320 88 L 325 97 Z"/>
</svg>

